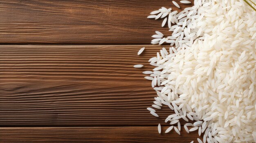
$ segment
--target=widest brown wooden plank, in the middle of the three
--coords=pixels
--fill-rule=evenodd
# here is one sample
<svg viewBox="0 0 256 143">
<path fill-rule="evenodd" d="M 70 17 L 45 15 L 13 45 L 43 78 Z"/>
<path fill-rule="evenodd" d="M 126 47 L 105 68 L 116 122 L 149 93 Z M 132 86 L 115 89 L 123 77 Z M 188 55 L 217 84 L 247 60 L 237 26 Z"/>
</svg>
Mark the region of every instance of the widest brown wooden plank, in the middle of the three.
<svg viewBox="0 0 256 143">
<path fill-rule="evenodd" d="M 137 51 L 145 46 L 140 56 Z M 162 46 L 0 45 L 0 126 L 132 126 L 153 117 L 155 91 L 142 72 Z M 133 68 L 144 64 L 144 68 Z M 164 124 L 168 125 L 168 124 Z"/>
</svg>

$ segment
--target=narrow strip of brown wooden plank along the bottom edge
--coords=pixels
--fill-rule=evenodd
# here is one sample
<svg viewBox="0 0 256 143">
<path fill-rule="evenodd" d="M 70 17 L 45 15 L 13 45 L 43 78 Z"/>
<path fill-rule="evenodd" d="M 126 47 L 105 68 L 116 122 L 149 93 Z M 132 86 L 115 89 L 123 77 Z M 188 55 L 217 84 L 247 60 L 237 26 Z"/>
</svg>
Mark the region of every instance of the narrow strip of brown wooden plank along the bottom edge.
<svg viewBox="0 0 256 143">
<path fill-rule="evenodd" d="M 168 127 L 162 128 L 164 132 Z M 157 127 L 0 128 L 1 143 L 198 143 L 197 131 L 182 136 Z"/>
</svg>

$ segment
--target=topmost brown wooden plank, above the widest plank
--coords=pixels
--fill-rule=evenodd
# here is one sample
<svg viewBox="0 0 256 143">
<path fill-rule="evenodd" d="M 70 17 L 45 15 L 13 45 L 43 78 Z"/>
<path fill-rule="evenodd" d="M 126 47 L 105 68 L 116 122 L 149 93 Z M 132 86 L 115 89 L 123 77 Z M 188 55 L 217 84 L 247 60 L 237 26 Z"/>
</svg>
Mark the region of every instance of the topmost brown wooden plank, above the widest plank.
<svg viewBox="0 0 256 143">
<path fill-rule="evenodd" d="M 150 44 L 167 31 L 146 18 L 161 7 L 178 10 L 170 0 L 0 0 L 0 43 Z"/>
</svg>

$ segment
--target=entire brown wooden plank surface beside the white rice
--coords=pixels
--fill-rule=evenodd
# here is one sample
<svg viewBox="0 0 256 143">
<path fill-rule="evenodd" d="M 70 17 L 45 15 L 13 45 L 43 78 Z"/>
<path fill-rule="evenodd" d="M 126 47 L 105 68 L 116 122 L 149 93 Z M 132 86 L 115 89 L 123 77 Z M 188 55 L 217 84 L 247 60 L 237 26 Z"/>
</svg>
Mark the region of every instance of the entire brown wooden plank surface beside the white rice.
<svg viewBox="0 0 256 143">
<path fill-rule="evenodd" d="M 158 134 L 173 112 L 146 110 L 156 94 L 141 72 L 162 48 L 151 35 L 170 34 L 146 17 L 163 6 L 180 11 L 170 0 L 0 0 L 0 143 L 197 142 L 183 128 Z"/>
</svg>

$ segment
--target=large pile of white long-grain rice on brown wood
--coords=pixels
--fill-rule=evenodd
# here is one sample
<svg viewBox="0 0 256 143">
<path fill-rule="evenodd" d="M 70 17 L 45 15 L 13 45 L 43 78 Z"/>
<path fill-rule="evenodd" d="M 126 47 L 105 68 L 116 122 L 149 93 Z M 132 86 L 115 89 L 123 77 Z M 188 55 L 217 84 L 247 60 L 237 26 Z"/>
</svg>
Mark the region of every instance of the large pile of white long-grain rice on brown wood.
<svg viewBox="0 0 256 143">
<path fill-rule="evenodd" d="M 156 68 L 144 72 L 158 95 L 153 108 L 175 111 L 166 123 L 178 128 L 166 132 L 180 134 L 184 119 L 195 121 L 184 128 L 202 134 L 198 142 L 256 142 L 256 12 L 243 0 L 195 0 L 180 13 L 171 10 L 148 18 L 164 18 L 162 26 L 173 31 L 168 37 L 156 31 L 152 44 L 175 47 L 163 48 L 149 60 Z"/>
</svg>

